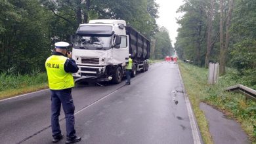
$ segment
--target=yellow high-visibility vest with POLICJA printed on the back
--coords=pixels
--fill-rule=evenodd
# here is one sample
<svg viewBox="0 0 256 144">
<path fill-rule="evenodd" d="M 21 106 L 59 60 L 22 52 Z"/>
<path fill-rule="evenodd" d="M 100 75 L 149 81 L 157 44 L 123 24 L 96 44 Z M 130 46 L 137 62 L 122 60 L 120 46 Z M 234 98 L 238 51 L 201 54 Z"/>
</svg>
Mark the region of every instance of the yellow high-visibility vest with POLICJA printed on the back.
<svg viewBox="0 0 256 144">
<path fill-rule="evenodd" d="M 68 58 L 64 56 L 50 56 L 45 62 L 49 88 L 51 90 L 63 90 L 75 86 L 72 73 L 66 73 L 64 64 Z"/>
</svg>

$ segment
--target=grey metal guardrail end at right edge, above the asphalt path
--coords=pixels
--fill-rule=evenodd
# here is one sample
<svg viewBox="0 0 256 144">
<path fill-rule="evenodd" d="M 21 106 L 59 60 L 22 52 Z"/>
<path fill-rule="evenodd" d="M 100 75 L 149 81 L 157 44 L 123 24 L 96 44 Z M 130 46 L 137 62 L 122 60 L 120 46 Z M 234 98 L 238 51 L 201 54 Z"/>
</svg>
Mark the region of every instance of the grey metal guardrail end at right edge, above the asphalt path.
<svg viewBox="0 0 256 144">
<path fill-rule="evenodd" d="M 256 101 L 256 90 L 253 90 L 251 88 L 243 86 L 242 84 L 237 84 L 237 85 L 234 85 L 234 86 L 230 86 L 228 88 L 225 88 L 224 91 L 240 92 L 241 94 L 245 95 L 246 99 L 249 98 L 253 101 Z"/>
</svg>

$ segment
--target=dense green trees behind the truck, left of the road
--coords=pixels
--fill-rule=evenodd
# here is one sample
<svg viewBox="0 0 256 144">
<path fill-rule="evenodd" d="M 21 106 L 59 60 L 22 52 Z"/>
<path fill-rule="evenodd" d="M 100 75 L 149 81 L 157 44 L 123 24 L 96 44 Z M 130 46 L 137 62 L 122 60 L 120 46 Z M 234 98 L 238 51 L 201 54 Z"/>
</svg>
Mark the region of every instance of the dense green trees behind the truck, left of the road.
<svg viewBox="0 0 256 144">
<path fill-rule="evenodd" d="M 0 73 L 44 71 L 54 42 L 92 19 L 125 20 L 150 40 L 158 32 L 155 0 L 1 0 L 0 7 Z"/>
</svg>

